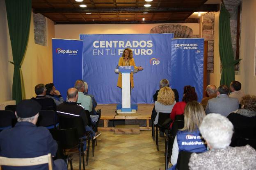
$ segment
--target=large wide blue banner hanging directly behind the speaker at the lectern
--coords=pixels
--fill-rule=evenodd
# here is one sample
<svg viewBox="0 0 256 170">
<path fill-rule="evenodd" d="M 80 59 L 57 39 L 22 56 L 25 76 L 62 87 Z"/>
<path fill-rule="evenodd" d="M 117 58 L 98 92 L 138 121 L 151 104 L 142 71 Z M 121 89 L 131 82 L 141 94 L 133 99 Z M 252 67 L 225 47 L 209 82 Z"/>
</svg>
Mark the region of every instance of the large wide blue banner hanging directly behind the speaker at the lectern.
<svg viewBox="0 0 256 170">
<path fill-rule="evenodd" d="M 114 69 L 125 48 L 133 50 L 132 103 L 152 103 L 161 79 L 171 79 L 171 39 L 173 34 L 80 34 L 83 40 L 83 80 L 99 104 L 121 103 L 121 88 Z"/>
</svg>

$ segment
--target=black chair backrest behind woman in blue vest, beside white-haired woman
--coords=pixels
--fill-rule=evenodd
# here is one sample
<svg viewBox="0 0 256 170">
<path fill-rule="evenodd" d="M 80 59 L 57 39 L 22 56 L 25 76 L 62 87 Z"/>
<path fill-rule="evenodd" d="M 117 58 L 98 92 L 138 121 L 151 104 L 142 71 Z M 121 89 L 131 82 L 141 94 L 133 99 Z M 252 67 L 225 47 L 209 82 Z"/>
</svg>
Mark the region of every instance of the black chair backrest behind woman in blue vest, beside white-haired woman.
<svg viewBox="0 0 256 170">
<path fill-rule="evenodd" d="M 192 152 L 181 151 L 178 154 L 176 170 L 189 170 L 188 163 Z"/>
</svg>

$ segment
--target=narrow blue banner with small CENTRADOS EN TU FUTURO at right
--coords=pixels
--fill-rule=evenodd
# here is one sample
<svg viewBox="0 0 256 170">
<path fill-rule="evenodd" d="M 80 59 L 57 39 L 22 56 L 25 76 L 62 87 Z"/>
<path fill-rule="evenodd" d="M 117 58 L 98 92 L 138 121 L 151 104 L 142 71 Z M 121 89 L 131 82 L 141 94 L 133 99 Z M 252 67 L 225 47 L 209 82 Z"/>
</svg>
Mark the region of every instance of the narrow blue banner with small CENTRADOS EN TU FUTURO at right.
<svg viewBox="0 0 256 170">
<path fill-rule="evenodd" d="M 180 100 L 183 87 L 196 88 L 198 101 L 203 97 L 203 39 L 171 40 L 171 83 Z"/>
</svg>

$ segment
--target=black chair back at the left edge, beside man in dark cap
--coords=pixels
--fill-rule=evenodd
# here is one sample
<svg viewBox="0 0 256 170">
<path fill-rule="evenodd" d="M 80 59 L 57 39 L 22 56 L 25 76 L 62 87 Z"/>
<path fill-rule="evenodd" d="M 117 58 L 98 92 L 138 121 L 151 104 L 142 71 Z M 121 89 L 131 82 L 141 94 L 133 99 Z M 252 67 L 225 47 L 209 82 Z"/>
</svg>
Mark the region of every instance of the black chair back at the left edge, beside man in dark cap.
<svg viewBox="0 0 256 170">
<path fill-rule="evenodd" d="M 15 114 L 10 110 L 0 111 L 0 131 L 3 129 L 8 129 L 12 127 L 13 120 L 15 119 Z"/>
</svg>

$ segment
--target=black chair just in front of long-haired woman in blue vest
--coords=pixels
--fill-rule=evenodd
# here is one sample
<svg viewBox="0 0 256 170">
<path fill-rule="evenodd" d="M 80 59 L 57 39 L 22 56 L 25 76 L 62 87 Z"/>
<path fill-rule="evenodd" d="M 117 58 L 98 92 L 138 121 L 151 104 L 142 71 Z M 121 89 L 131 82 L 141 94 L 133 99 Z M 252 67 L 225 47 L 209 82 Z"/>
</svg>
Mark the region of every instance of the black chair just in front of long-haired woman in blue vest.
<svg viewBox="0 0 256 170">
<path fill-rule="evenodd" d="M 171 160 L 171 154 L 172 154 L 172 146 L 174 143 L 175 136 L 177 134 L 178 129 L 182 129 L 184 127 L 184 121 L 182 120 L 176 120 L 172 124 L 172 128 L 169 131 L 169 133 L 166 135 L 165 138 L 165 160 L 166 160 L 166 166 L 169 167 L 169 162 Z M 167 168 L 168 169 L 168 168 Z"/>
</svg>

